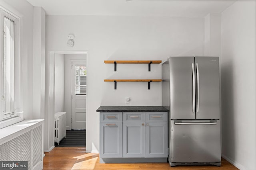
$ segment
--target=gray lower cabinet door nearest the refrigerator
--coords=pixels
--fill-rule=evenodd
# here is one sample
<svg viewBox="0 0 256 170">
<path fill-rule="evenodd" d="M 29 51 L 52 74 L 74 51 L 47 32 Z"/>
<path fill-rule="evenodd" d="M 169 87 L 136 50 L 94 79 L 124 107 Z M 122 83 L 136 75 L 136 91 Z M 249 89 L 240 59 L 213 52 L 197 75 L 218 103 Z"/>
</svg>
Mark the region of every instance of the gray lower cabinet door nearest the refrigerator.
<svg viewBox="0 0 256 170">
<path fill-rule="evenodd" d="M 168 123 L 146 122 L 145 127 L 145 157 L 168 157 Z"/>
</svg>

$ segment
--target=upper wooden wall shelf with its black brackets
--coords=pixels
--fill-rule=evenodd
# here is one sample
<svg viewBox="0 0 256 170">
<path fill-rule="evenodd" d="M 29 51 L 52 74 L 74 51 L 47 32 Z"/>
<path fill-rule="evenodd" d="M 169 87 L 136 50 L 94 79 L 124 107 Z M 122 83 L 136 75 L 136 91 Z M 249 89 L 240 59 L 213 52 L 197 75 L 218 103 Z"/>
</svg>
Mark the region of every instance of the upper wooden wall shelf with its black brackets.
<svg viewBox="0 0 256 170">
<path fill-rule="evenodd" d="M 160 64 L 162 63 L 161 60 L 105 60 L 104 63 L 106 64 L 115 64 L 114 71 L 116 71 L 116 64 L 148 64 L 148 71 L 150 71 L 151 64 Z"/>
</svg>

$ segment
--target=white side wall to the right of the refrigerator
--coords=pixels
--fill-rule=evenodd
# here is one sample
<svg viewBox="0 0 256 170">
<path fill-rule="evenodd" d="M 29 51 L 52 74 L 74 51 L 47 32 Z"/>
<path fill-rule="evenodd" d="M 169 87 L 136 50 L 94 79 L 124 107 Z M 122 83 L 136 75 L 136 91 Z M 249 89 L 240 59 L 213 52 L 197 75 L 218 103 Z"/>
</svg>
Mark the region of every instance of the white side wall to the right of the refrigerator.
<svg viewBox="0 0 256 170">
<path fill-rule="evenodd" d="M 256 169 L 255 1 L 222 12 L 222 156 L 240 170 Z"/>
</svg>

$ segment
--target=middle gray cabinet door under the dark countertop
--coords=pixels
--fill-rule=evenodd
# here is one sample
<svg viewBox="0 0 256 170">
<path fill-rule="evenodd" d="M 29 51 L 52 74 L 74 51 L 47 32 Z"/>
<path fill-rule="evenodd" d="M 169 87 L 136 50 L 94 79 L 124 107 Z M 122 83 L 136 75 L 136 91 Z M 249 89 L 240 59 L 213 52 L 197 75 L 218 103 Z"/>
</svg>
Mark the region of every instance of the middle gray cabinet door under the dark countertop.
<svg viewBox="0 0 256 170">
<path fill-rule="evenodd" d="M 144 122 L 123 122 L 123 158 L 145 157 Z"/>
</svg>

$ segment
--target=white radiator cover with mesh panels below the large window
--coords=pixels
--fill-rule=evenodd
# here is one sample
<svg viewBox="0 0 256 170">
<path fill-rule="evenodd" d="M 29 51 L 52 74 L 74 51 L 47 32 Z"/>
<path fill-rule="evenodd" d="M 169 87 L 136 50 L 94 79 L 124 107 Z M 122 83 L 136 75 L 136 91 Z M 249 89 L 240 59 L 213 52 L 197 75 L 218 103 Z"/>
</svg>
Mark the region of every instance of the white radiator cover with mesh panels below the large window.
<svg viewBox="0 0 256 170">
<path fill-rule="evenodd" d="M 0 129 L 0 161 L 28 161 L 43 169 L 43 120 L 24 120 Z"/>
</svg>

